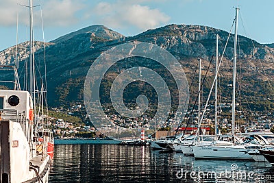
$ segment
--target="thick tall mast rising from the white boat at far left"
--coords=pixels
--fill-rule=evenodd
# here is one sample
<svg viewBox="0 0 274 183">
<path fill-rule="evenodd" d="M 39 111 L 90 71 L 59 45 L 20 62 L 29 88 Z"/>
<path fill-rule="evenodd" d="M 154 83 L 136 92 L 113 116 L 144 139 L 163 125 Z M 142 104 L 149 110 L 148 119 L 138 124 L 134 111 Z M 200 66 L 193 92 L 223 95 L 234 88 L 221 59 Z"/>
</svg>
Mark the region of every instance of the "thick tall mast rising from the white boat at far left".
<svg viewBox="0 0 274 183">
<path fill-rule="evenodd" d="M 33 23 L 33 13 L 32 13 L 32 0 L 29 0 L 29 93 L 32 96 L 32 23 Z"/>
</svg>

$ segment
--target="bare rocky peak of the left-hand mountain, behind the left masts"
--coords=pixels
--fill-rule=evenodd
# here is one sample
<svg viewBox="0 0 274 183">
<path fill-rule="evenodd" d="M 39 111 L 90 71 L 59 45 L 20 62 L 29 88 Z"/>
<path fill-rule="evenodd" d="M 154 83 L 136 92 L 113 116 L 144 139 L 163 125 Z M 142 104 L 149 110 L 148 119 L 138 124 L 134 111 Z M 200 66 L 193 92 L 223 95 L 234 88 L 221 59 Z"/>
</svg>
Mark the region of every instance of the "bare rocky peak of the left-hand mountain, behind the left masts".
<svg viewBox="0 0 274 183">
<path fill-rule="evenodd" d="M 96 42 L 105 42 L 108 40 L 116 40 L 124 37 L 125 36 L 122 34 L 114 32 L 103 25 L 92 25 L 83 29 L 79 29 L 76 32 L 61 36 L 60 38 L 52 40 L 51 42 L 45 42 L 45 47 L 47 52 L 49 52 L 49 55 L 56 54 L 56 56 L 60 56 L 60 58 L 66 58 L 67 53 L 70 53 L 70 55 L 73 57 L 75 54 L 88 51 Z M 40 53 L 40 51 L 43 51 L 43 44 L 43 42 L 35 41 L 34 52 Z M 19 61 L 25 60 L 28 57 L 28 47 L 28 41 L 18 44 Z M 55 49 L 57 52 L 55 52 Z M 0 63 L 14 64 L 15 55 L 16 46 L 1 51 Z"/>
</svg>

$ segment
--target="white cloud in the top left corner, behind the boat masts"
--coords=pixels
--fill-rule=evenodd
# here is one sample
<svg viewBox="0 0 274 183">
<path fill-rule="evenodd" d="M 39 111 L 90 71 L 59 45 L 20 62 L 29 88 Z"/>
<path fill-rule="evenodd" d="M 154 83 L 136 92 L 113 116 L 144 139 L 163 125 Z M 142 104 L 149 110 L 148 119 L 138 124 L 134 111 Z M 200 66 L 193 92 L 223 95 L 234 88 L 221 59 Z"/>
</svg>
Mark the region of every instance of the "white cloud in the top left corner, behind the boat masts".
<svg viewBox="0 0 274 183">
<path fill-rule="evenodd" d="M 29 10 L 22 5 L 29 5 L 28 0 L 1 0 L 0 1 L 0 25 L 16 25 L 16 14 L 19 15 L 19 23 L 29 23 Z M 42 18 L 45 25 L 65 26 L 77 22 L 76 13 L 84 8 L 83 1 L 73 0 L 47 0 L 34 1 L 33 5 L 42 6 Z M 34 24 L 40 22 L 40 8 L 34 8 Z"/>
</svg>

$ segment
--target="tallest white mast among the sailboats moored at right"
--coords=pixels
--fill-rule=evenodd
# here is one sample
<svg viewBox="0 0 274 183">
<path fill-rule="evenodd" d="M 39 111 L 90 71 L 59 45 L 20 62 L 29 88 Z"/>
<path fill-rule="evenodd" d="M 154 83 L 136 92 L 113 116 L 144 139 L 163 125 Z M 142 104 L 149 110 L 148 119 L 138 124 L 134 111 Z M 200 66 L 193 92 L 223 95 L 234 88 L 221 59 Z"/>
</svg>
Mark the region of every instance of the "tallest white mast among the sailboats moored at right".
<svg viewBox="0 0 274 183">
<path fill-rule="evenodd" d="M 234 35 L 234 58 L 233 58 L 233 92 L 232 92 L 232 142 L 235 140 L 235 90 L 236 90 L 236 58 L 237 58 L 237 35 L 238 35 L 238 11 L 236 8 L 235 16 L 235 35 Z"/>
</svg>

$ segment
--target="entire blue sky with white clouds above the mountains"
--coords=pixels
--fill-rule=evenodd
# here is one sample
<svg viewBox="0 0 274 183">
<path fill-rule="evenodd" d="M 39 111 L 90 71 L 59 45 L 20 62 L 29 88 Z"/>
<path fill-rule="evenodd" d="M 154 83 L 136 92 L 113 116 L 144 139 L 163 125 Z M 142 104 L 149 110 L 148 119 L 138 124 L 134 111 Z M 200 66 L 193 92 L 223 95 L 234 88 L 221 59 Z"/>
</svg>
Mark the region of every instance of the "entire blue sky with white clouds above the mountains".
<svg viewBox="0 0 274 183">
<path fill-rule="evenodd" d="M 28 0 L 0 0 L 0 51 L 16 45 L 16 37 L 29 40 L 27 5 Z M 46 42 L 98 24 L 124 36 L 173 23 L 229 32 L 239 7 L 238 34 L 274 43 L 273 0 L 34 0 L 34 6 L 34 39 Z"/>
</svg>

